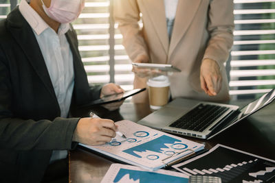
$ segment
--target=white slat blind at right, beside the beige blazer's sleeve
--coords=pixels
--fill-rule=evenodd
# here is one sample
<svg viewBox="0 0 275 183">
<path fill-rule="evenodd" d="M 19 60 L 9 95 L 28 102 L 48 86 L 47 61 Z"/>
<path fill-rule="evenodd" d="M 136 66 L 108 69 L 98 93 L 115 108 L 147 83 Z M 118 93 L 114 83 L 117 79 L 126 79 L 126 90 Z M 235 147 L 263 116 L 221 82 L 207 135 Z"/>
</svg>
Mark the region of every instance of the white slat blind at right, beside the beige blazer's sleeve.
<svg viewBox="0 0 275 183">
<path fill-rule="evenodd" d="M 275 1 L 234 0 L 230 95 L 254 98 L 275 88 Z"/>
</svg>

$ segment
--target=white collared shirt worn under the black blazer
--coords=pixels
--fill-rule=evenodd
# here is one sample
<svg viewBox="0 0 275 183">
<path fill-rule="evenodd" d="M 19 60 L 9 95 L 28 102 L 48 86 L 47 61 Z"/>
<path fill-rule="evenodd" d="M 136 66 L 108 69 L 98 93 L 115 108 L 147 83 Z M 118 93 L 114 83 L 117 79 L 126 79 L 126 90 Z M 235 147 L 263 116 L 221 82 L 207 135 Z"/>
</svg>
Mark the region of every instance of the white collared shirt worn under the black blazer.
<svg viewBox="0 0 275 183">
<path fill-rule="evenodd" d="M 61 24 L 56 34 L 26 0 L 21 1 L 19 11 L 32 27 L 54 87 L 61 117 L 67 118 L 74 90 L 73 56 L 65 36 L 70 29 L 69 23 Z M 53 151 L 51 162 L 66 156 L 67 151 Z"/>
</svg>

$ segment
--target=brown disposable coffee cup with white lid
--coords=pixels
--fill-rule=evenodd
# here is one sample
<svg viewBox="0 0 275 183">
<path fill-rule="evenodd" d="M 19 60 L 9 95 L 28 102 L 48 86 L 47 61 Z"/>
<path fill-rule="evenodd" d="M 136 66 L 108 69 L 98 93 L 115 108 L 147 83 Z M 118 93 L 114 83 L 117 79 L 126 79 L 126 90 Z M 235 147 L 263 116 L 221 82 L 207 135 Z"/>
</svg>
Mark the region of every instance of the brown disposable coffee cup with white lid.
<svg viewBox="0 0 275 183">
<path fill-rule="evenodd" d="M 150 108 L 153 110 L 162 108 L 168 102 L 169 97 L 170 82 L 168 77 L 166 75 L 153 77 L 148 80 L 147 85 Z"/>
</svg>

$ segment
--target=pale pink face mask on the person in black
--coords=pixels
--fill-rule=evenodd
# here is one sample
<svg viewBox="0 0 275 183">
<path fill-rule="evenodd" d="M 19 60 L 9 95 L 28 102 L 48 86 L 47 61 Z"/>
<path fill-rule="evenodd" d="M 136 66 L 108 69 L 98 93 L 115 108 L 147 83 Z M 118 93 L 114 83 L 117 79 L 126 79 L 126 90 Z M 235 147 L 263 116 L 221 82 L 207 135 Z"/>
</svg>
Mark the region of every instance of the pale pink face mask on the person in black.
<svg viewBox="0 0 275 183">
<path fill-rule="evenodd" d="M 71 23 L 78 18 L 85 6 L 85 0 L 52 0 L 49 8 L 43 0 L 41 2 L 45 14 L 59 23 Z"/>
</svg>

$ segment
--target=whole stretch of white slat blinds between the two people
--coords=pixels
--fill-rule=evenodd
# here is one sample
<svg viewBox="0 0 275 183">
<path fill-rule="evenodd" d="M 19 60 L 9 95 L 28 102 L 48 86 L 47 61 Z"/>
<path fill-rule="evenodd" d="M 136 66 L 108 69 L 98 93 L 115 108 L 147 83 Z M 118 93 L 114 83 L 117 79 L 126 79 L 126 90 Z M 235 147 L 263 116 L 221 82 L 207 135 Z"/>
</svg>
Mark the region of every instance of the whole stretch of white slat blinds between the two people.
<svg viewBox="0 0 275 183">
<path fill-rule="evenodd" d="M 121 45 L 122 35 L 113 24 L 109 0 L 86 0 L 85 9 L 74 22 L 79 51 L 92 84 L 115 82 L 124 90 L 133 88 L 133 73 Z M 111 26 L 110 26 L 111 25 Z"/>
</svg>

